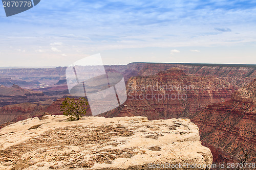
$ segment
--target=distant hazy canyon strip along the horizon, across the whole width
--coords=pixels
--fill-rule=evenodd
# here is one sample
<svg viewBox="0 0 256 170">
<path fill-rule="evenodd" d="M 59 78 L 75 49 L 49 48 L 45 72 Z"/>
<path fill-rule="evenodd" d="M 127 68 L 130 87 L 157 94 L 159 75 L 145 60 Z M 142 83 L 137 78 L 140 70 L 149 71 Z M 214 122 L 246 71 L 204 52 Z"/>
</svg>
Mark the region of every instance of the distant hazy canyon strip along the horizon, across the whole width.
<svg viewBox="0 0 256 170">
<path fill-rule="evenodd" d="M 97 68 L 97 66 L 94 66 Z M 190 63 L 130 63 L 127 65 L 104 65 L 105 70 L 114 69 L 124 76 L 151 76 L 159 71 L 177 67 L 186 74 L 215 76 L 234 86 L 244 87 L 256 78 L 256 66 L 248 64 L 190 64 Z M 65 80 L 67 67 L 56 68 L 13 68 L 0 69 L 0 84 L 11 87 L 16 84 L 22 88 L 49 88 L 60 80 Z"/>
</svg>

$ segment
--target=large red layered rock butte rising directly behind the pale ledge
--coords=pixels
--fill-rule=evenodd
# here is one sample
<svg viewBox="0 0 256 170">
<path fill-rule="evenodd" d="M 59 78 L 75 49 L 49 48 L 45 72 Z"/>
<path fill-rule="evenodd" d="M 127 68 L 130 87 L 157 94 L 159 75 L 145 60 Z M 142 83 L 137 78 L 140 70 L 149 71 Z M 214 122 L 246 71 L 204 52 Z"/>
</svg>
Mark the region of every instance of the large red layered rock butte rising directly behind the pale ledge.
<svg viewBox="0 0 256 170">
<path fill-rule="evenodd" d="M 236 88 L 212 76 L 187 75 L 179 68 L 171 68 L 154 76 L 131 77 L 126 89 L 127 101 L 102 115 L 140 115 L 149 119 L 189 117 L 210 103 L 229 100 Z"/>
</svg>

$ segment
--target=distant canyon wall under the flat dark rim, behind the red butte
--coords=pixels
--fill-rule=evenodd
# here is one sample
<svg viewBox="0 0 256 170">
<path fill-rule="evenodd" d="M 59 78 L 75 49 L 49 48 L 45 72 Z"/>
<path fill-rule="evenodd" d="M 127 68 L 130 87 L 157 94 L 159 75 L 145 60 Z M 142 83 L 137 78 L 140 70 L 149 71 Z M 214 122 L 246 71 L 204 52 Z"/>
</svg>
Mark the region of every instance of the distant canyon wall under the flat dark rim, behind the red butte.
<svg viewBox="0 0 256 170">
<path fill-rule="evenodd" d="M 178 67 L 186 74 L 215 76 L 239 88 L 246 86 L 256 78 L 255 65 L 241 64 L 165 64 L 145 63 L 138 72 L 139 76 L 155 75 L 161 70 Z"/>
</svg>

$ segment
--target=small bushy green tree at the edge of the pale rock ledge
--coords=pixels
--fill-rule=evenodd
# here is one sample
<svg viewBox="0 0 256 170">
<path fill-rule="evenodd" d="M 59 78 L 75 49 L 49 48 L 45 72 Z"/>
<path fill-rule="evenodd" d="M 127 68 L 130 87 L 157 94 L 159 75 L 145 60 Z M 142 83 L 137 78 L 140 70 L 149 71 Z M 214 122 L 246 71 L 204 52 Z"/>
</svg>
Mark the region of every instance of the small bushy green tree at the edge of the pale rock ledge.
<svg viewBox="0 0 256 170">
<path fill-rule="evenodd" d="M 69 119 L 79 120 L 82 115 L 86 114 L 88 101 L 86 98 L 70 99 L 66 98 L 60 106 L 60 110 L 63 111 L 63 115 L 70 116 Z"/>
</svg>

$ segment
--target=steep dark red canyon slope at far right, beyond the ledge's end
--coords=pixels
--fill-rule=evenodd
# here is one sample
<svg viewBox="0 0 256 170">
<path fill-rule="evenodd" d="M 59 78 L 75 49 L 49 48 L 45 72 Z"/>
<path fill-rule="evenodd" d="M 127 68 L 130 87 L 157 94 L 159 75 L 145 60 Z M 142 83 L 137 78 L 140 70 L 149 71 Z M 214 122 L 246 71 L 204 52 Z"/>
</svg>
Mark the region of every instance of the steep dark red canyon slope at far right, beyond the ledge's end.
<svg viewBox="0 0 256 170">
<path fill-rule="evenodd" d="M 212 151 L 219 148 L 228 155 L 242 157 L 242 150 L 248 152 L 251 148 L 247 162 L 256 161 L 256 79 L 234 92 L 231 100 L 210 104 L 190 118 Z M 218 161 L 221 157 L 214 158 Z"/>
</svg>

